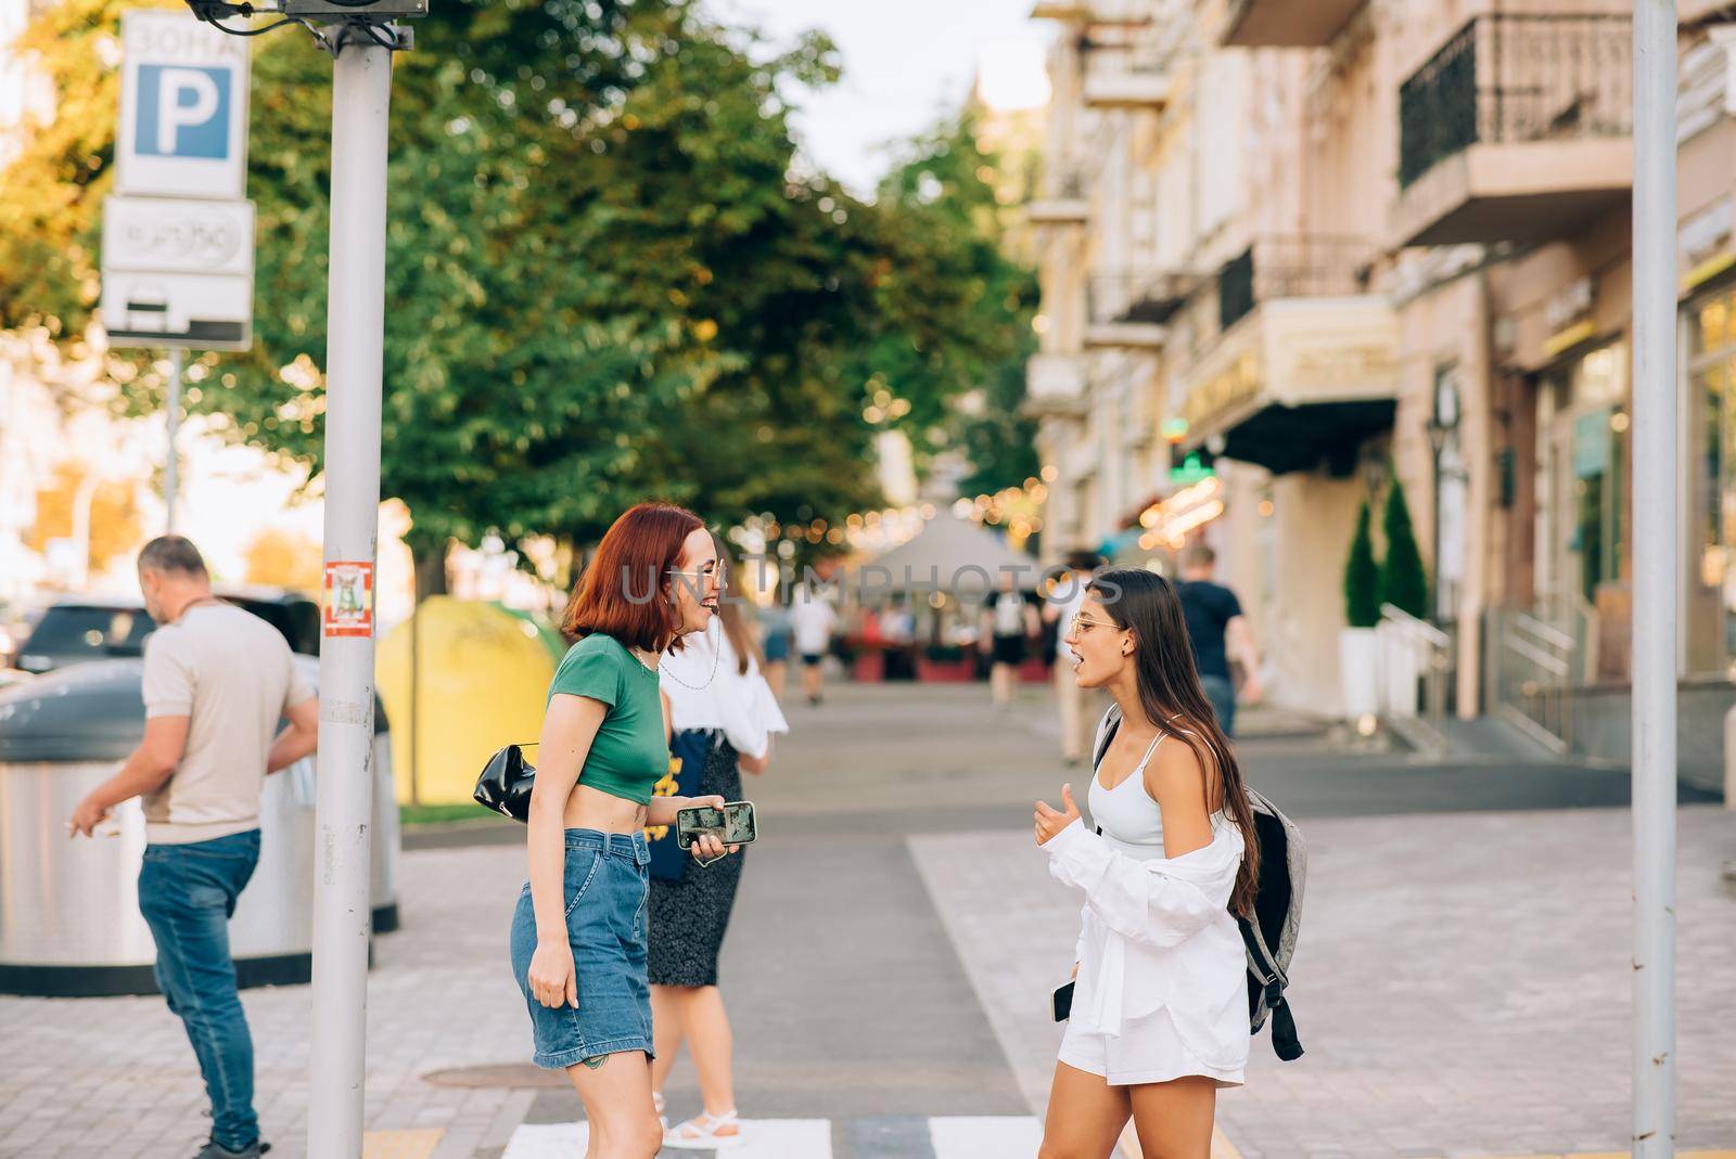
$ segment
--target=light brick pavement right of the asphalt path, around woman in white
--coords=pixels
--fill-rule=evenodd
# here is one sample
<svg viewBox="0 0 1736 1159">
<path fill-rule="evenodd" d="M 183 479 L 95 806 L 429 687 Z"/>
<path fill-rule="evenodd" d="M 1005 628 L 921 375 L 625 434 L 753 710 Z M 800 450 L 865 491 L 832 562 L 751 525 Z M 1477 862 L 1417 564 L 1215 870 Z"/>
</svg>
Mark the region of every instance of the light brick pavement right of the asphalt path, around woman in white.
<svg viewBox="0 0 1736 1159">
<path fill-rule="evenodd" d="M 1415 776 L 1427 776 L 1417 772 Z M 1680 812 L 1679 1145 L 1736 1147 L 1736 817 Z M 1307 1055 L 1262 1034 L 1219 1100 L 1245 1159 L 1609 1152 L 1628 1138 L 1630 838 L 1625 810 L 1304 822 L 1293 998 Z M 1029 833 L 918 835 L 924 873 L 1038 1114 L 1078 895 Z"/>
</svg>

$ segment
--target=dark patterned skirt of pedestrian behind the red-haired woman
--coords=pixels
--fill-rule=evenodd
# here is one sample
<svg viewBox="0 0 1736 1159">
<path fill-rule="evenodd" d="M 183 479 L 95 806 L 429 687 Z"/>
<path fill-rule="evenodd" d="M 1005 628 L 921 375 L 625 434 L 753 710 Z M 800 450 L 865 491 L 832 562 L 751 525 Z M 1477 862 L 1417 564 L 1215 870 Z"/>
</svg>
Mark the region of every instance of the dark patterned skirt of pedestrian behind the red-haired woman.
<svg viewBox="0 0 1736 1159">
<path fill-rule="evenodd" d="M 707 750 L 696 796 L 741 800 L 741 765 L 729 741 Z M 729 928 L 729 911 L 741 883 L 746 847 L 710 866 L 689 862 L 681 881 L 651 878 L 653 985 L 717 985 L 717 953 Z"/>
</svg>

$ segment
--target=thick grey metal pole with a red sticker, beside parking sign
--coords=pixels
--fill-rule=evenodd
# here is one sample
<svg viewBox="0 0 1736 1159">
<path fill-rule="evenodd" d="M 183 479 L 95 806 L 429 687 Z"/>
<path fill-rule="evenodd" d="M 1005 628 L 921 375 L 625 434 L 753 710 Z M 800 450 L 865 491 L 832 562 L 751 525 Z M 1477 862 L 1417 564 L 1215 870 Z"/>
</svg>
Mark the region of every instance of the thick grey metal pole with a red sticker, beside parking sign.
<svg viewBox="0 0 1736 1159">
<path fill-rule="evenodd" d="M 326 564 L 373 564 L 377 553 L 385 115 L 391 90 L 391 50 L 354 35 L 340 40 L 332 69 Z M 307 1112 L 307 1154 L 312 1159 L 361 1157 L 372 765 L 373 635 L 340 637 L 328 630 L 319 649 L 314 1012 Z"/>
</svg>

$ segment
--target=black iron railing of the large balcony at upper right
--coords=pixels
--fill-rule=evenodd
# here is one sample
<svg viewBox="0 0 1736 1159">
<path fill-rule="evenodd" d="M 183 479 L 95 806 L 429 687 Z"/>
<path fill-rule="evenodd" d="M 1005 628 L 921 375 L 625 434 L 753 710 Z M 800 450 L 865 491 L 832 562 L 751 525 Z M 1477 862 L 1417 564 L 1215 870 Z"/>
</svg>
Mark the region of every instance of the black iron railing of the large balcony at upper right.
<svg viewBox="0 0 1736 1159">
<path fill-rule="evenodd" d="M 1474 144 L 1630 135 L 1632 47 L 1620 14 L 1472 19 L 1399 87 L 1399 186 Z"/>
</svg>

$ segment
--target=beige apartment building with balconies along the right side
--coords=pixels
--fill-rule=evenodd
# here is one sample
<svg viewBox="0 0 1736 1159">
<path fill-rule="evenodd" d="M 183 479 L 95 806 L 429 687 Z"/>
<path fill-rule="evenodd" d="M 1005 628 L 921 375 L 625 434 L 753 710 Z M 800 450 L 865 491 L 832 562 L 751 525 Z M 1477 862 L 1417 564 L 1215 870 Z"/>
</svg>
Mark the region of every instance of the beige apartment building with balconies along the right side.
<svg viewBox="0 0 1736 1159">
<path fill-rule="evenodd" d="M 1680 5 L 1684 763 L 1736 658 L 1736 24 Z M 1047 548 L 1219 548 L 1274 699 L 1344 708 L 1342 574 L 1399 481 L 1460 717 L 1627 751 L 1630 5 L 1047 0 L 1028 406 Z M 1186 456 L 1213 468 L 1172 468 Z M 1720 776 L 1720 774 L 1719 774 Z"/>
</svg>

